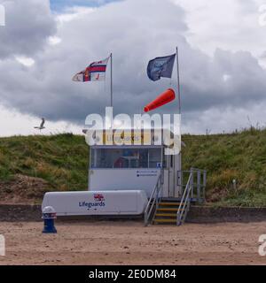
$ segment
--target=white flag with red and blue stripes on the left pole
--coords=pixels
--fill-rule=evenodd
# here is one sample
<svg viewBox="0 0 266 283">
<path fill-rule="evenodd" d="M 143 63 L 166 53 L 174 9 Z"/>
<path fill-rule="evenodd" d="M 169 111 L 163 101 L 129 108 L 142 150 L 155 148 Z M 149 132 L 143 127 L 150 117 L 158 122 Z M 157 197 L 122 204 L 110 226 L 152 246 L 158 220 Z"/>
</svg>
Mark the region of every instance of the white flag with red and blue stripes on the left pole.
<svg viewBox="0 0 266 283">
<path fill-rule="evenodd" d="M 84 71 L 76 73 L 74 81 L 101 81 L 106 80 L 106 67 L 110 57 L 91 63 Z"/>
</svg>

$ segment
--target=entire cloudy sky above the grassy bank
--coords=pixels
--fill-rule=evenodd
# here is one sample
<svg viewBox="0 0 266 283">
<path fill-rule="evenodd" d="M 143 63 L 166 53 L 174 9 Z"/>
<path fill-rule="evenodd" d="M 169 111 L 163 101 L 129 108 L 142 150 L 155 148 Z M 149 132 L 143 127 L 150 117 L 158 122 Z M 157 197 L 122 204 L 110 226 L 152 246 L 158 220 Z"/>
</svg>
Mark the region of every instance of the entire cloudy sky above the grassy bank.
<svg viewBox="0 0 266 283">
<path fill-rule="evenodd" d="M 0 4 L 1 136 L 35 134 L 41 117 L 46 134 L 81 133 L 86 116 L 109 104 L 109 73 L 106 83 L 71 78 L 110 52 L 114 112 L 139 113 L 160 92 L 176 88 L 176 68 L 172 80 L 146 76 L 148 61 L 173 54 L 176 46 L 184 133 L 266 126 L 266 0 Z M 160 113 L 177 108 L 176 101 Z"/>
</svg>

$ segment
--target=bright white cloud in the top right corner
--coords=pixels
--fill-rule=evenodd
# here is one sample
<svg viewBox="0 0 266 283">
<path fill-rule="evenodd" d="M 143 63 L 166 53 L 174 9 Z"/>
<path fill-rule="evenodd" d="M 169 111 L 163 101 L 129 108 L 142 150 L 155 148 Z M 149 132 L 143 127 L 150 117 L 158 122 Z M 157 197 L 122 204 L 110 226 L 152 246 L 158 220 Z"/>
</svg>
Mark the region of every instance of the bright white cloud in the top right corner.
<svg viewBox="0 0 266 283">
<path fill-rule="evenodd" d="M 266 27 L 259 25 L 260 7 L 265 0 L 171 0 L 182 5 L 189 27 L 188 41 L 192 46 L 213 54 L 224 50 L 249 50 L 259 59 L 266 45 Z"/>
</svg>

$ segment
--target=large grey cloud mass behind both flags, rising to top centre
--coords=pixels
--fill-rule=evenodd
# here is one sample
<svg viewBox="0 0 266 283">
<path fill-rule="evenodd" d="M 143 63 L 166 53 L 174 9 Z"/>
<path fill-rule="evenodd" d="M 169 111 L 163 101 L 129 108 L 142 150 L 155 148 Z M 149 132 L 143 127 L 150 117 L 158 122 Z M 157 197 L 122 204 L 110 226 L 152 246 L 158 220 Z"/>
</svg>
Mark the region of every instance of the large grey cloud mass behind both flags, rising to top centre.
<svg viewBox="0 0 266 283">
<path fill-rule="evenodd" d="M 176 45 L 184 119 L 208 109 L 248 108 L 265 101 L 266 73 L 251 53 L 216 50 L 210 57 L 192 48 L 187 33 L 184 10 L 168 1 L 103 6 L 59 26 L 62 42 L 36 54 L 34 66 L 5 60 L 0 65 L 1 101 L 47 119 L 83 122 L 109 105 L 109 80 L 74 83 L 71 78 L 113 51 L 114 111 L 139 113 L 165 88 L 176 88 L 176 68 L 172 80 L 152 82 L 145 73 L 150 59 L 174 53 Z M 176 112 L 177 102 L 159 112 L 166 111 Z"/>
</svg>

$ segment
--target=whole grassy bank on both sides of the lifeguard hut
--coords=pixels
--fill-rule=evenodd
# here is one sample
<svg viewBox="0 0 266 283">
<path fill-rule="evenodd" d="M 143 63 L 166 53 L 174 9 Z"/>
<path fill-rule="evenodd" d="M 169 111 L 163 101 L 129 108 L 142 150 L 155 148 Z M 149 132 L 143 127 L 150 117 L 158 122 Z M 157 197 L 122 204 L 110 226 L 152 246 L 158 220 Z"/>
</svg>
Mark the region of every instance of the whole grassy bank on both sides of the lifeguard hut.
<svg viewBox="0 0 266 283">
<path fill-rule="evenodd" d="M 234 134 L 184 134 L 183 141 L 183 169 L 207 170 L 208 203 L 266 206 L 266 130 L 252 127 Z M 53 190 L 85 190 L 88 163 L 89 149 L 81 135 L 0 139 L 0 181 L 22 174 L 43 178 Z"/>
</svg>

